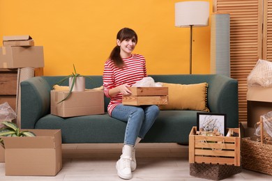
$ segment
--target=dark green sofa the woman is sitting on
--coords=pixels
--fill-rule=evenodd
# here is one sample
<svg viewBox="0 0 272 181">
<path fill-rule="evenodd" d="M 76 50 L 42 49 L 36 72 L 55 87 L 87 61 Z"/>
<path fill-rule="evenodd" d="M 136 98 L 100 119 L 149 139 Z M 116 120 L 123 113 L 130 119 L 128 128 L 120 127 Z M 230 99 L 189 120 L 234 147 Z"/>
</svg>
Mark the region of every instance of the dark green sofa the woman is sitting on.
<svg viewBox="0 0 272 181">
<path fill-rule="evenodd" d="M 150 75 L 156 82 L 197 84 L 207 82 L 208 107 L 212 113 L 226 113 L 227 127 L 238 127 L 238 82 L 219 74 Z M 89 76 L 86 88 L 103 85 L 102 76 Z M 63 143 L 123 143 L 126 123 L 107 114 L 61 118 L 50 114 L 50 90 L 63 76 L 33 77 L 22 81 L 22 129 L 61 129 Z M 68 85 L 68 82 L 63 85 Z M 182 100 L 181 100 L 182 101 Z M 188 135 L 197 125 L 197 112 L 189 110 L 160 111 L 158 119 L 142 143 L 188 144 Z"/>
</svg>

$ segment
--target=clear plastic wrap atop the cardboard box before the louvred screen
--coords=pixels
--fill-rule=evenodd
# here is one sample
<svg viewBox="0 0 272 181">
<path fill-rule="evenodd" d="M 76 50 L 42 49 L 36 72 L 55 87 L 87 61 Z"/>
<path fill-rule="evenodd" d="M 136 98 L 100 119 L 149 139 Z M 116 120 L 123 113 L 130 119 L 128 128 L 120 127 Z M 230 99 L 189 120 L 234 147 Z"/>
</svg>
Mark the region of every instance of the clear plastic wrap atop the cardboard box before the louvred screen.
<svg viewBox="0 0 272 181">
<path fill-rule="evenodd" d="M 248 75 L 248 87 L 272 87 L 272 63 L 259 59 Z"/>
</svg>

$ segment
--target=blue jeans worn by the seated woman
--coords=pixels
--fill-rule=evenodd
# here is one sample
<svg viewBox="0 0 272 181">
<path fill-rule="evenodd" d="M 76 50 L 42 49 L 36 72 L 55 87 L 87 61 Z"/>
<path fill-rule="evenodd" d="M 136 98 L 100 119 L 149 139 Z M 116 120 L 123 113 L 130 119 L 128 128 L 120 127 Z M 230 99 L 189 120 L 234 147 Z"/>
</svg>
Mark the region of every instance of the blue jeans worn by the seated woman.
<svg viewBox="0 0 272 181">
<path fill-rule="evenodd" d="M 137 137 L 144 139 L 159 113 L 156 105 L 134 107 L 119 104 L 113 109 L 112 118 L 127 122 L 124 144 L 135 145 Z"/>
</svg>

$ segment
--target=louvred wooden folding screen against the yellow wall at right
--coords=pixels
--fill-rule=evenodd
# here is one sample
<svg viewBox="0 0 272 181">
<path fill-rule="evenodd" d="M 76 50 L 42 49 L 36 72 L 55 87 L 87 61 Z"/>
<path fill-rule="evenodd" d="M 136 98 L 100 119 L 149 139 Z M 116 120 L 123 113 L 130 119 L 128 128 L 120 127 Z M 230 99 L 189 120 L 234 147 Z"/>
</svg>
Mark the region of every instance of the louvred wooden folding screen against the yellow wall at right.
<svg viewBox="0 0 272 181">
<path fill-rule="evenodd" d="M 248 74 L 259 58 L 272 61 L 272 2 L 214 0 L 213 12 L 230 15 L 230 77 L 239 81 L 239 121 L 247 121 Z"/>
</svg>

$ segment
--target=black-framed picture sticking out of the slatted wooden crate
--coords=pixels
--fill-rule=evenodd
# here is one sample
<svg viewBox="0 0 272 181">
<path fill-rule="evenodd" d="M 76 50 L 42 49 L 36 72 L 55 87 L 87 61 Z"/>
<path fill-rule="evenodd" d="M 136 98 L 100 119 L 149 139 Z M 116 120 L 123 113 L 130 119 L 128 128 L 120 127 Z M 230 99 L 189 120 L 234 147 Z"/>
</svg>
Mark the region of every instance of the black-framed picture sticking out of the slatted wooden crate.
<svg viewBox="0 0 272 181">
<path fill-rule="evenodd" d="M 226 118 L 224 113 L 197 113 L 197 131 L 220 132 L 221 136 L 226 135 Z"/>
</svg>

